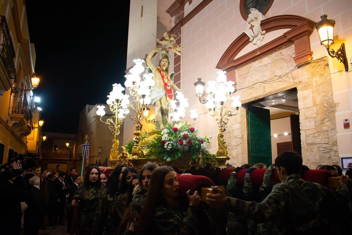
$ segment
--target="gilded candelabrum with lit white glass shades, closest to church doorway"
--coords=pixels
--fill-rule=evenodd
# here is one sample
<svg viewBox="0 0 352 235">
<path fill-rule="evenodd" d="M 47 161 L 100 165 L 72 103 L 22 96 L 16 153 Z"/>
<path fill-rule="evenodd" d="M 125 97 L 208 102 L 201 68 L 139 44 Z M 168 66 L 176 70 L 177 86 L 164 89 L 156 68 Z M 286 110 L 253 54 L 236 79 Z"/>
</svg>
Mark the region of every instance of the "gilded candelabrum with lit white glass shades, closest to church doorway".
<svg viewBox="0 0 352 235">
<path fill-rule="evenodd" d="M 230 120 L 231 116 L 237 115 L 239 107 L 242 105 L 239 101 L 239 96 L 231 97 L 236 89 L 233 87 L 235 84 L 233 81 L 227 81 L 226 71 L 216 72 L 218 77 L 216 81 L 208 81 L 208 87 L 206 89 L 208 97 L 202 98 L 204 94 L 205 82 L 198 78 L 198 81 L 194 83 L 196 89 L 196 96 L 199 98 L 199 102 L 205 104 L 210 116 L 215 117 L 216 123 L 219 126 L 218 134 L 218 151 L 217 156 L 225 156 L 229 159 L 226 142 L 224 140 L 225 126 Z M 232 100 L 231 106 L 235 108 L 236 113 L 232 113 L 224 107 L 227 101 Z M 195 115 L 193 115 L 195 117 Z"/>
</svg>

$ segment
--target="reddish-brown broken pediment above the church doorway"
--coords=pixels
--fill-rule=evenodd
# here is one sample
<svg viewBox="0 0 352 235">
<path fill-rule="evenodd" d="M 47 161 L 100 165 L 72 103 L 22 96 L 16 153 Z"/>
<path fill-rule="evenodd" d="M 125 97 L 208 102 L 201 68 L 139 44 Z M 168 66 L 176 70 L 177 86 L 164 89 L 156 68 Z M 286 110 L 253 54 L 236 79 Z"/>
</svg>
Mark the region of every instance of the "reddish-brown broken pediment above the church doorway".
<svg viewBox="0 0 352 235">
<path fill-rule="evenodd" d="M 279 29 L 291 30 L 234 60 L 236 55 L 246 45 L 251 43 L 248 36 L 245 33 L 241 33 L 221 56 L 216 68 L 229 72 L 290 43 L 295 44 L 294 60 L 296 64 L 311 60 L 313 52 L 310 51 L 309 36 L 313 32 L 314 25 L 315 22 L 313 20 L 295 15 L 281 15 L 265 19 L 260 23 L 260 26 L 266 33 Z"/>
</svg>

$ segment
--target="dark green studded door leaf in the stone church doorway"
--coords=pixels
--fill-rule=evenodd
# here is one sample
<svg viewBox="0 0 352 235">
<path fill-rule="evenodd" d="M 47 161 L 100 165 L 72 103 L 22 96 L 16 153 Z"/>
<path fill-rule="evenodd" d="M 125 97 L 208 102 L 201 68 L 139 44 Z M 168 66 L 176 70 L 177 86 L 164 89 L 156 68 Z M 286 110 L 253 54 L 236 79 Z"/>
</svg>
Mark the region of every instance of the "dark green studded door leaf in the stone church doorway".
<svg viewBox="0 0 352 235">
<path fill-rule="evenodd" d="M 272 164 L 270 111 L 249 105 L 247 123 L 249 164 L 262 162 L 269 167 Z"/>
</svg>

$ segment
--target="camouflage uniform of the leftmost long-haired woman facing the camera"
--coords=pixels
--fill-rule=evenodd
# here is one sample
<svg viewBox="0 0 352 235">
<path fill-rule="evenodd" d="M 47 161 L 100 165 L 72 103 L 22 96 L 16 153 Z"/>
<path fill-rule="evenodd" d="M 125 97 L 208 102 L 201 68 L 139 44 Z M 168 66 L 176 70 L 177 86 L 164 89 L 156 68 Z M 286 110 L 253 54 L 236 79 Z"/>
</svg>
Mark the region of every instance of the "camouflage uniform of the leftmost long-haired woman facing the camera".
<svg viewBox="0 0 352 235">
<path fill-rule="evenodd" d="M 81 195 L 83 187 L 77 188 L 75 195 Z M 94 186 L 89 186 L 89 197 L 80 199 L 78 208 L 80 209 L 78 230 L 90 233 L 93 229 L 93 222 L 96 208 L 99 203 L 100 191 Z"/>
</svg>

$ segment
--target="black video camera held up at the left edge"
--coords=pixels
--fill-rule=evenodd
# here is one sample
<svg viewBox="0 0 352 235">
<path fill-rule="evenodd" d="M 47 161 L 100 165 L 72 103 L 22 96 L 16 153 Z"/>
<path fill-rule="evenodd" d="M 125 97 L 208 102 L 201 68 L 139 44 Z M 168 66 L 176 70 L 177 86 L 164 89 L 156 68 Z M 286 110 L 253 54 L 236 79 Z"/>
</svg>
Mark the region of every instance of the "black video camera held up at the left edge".
<svg viewBox="0 0 352 235">
<path fill-rule="evenodd" d="M 17 162 L 22 165 L 20 169 L 11 169 L 11 163 Z M 26 153 L 18 154 L 17 157 L 11 159 L 9 162 L 6 162 L 3 165 L 0 165 L 0 178 L 3 180 L 12 179 L 20 174 L 22 174 L 26 169 L 35 166 L 36 163 L 34 162 L 31 156 L 28 156 Z"/>
</svg>

